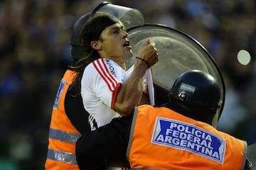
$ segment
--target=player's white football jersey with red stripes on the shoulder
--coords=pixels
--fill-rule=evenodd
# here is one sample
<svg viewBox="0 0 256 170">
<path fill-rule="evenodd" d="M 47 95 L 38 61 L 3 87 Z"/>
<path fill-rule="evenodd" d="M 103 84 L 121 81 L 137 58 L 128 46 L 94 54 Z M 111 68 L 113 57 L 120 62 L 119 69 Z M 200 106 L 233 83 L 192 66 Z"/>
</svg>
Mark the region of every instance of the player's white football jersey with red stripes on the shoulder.
<svg viewBox="0 0 256 170">
<path fill-rule="evenodd" d="M 121 116 L 113 108 L 119 86 L 128 78 L 126 73 L 116 62 L 105 58 L 95 60 L 85 68 L 81 79 L 82 102 L 98 127 Z M 94 130 L 91 120 L 89 122 Z"/>
</svg>

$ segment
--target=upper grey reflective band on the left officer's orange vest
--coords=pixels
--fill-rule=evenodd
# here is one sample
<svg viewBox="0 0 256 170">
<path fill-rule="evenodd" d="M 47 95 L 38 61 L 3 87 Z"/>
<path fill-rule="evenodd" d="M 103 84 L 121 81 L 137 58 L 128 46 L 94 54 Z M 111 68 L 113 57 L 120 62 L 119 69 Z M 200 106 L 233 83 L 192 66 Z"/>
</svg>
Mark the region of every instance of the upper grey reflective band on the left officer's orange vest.
<svg viewBox="0 0 256 170">
<path fill-rule="evenodd" d="M 49 137 L 53 140 L 75 143 L 81 135 L 79 133 L 65 132 L 50 128 Z"/>
</svg>

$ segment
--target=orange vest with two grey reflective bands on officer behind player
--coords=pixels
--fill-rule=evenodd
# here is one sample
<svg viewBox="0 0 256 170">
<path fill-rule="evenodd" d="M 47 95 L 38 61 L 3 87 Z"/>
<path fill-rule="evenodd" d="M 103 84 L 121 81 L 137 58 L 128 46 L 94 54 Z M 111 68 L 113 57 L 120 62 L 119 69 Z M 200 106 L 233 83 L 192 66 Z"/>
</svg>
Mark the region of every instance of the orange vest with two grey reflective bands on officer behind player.
<svg viewBox="0 0 256 170">
<path fill-rule="evenodd" d="M 79 170 L 75 157 L 75 142 L 81 134 L 70 122 L 64 106 L 65 95 L 75 74 L 67 70 L 60 81 L 50 120 L 46 170 Z"/>
</svg>

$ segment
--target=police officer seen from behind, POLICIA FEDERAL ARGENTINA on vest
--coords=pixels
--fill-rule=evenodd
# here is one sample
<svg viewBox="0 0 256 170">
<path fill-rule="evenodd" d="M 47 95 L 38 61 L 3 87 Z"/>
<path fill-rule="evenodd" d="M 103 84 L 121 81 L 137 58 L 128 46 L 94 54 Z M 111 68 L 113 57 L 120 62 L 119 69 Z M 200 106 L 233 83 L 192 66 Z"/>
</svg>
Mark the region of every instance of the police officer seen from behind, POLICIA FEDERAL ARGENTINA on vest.
<svg viewBox="0 0 256 170">
<path fill-rule="evenodd" d="M 247 142 L 211 125 L 219 105 L 215 79 L 187 71 L 174 82 L 168 103 L 139 106 L 133 117 L 83 134 L 76 145 L 78 165 L 104 169 L 104 159 L 126 154 L 132 169 L 250 169 Z"/>
</svg>

